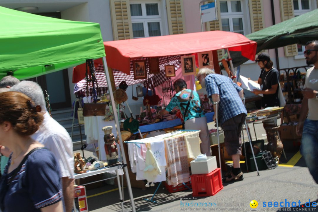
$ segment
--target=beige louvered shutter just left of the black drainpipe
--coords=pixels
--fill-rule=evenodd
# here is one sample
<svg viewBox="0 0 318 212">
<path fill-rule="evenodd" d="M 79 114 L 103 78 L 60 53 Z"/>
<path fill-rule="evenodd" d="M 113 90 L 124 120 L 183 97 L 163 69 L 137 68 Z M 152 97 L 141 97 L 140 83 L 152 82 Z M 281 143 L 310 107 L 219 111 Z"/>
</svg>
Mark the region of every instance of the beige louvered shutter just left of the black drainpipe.
<svg viewBox="0 0 318 212">
<path fill-rule="evenodd" d="M 264 28 L 264 15 L 263 15 L 263 4 L 261 0 L 249 0 L 248 1 L 250 18 L 251 18 L 251 29 L 252 32 L 259 31 Z"/>
</svg>

